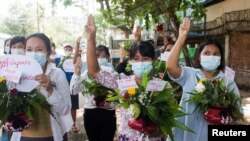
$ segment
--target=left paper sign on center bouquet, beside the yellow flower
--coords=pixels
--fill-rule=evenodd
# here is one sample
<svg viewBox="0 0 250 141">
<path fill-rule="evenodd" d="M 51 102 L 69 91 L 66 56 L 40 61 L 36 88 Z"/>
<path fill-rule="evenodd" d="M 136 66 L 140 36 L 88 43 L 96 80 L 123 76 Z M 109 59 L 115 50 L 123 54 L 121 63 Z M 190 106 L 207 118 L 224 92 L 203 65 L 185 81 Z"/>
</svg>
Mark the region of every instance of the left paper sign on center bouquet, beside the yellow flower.
<svg viewBox="0 0 250 141">
<path fill-rule="evenodd" d="M 134 78 L 116 80 L 120 91 L 127 90 L 129 88 L 138 88 Z"/>
</svg>

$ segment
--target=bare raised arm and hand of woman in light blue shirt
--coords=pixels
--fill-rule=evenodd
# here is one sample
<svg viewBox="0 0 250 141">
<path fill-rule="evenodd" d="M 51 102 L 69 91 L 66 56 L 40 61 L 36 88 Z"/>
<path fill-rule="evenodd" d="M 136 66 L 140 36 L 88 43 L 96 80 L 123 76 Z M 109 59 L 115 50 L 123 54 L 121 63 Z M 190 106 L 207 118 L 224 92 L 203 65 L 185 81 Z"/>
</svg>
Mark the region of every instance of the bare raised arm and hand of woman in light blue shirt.
<svg viewBox="0 0 250 141">
<path fill-rule="evenodd" d="M 190 28 L 190 19 L 184 18 L 183 23 L 180 25 L 180 28 L 179 28 L 178 39 L 174 47 L 172 48 L 171 53 L 168 58 L 169 61 L 166 67 L 167 67 L 169 74 L 172 75 L 174 78 L 179 78 L 181 75 L 181 67 L 179 65 L 179 55 L 180 55 L 181 49 L 183 48 L 185 44 L 185 40 L 188 36 L 189 28 Z"/>
</svg>

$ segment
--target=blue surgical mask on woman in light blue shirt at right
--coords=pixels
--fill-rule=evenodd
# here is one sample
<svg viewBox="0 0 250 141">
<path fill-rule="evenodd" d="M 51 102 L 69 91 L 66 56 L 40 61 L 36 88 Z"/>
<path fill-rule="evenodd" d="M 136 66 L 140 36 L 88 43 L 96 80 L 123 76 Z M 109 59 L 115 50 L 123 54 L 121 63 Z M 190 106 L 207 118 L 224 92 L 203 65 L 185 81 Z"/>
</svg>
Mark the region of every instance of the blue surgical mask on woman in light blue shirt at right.
<svg viewBox="0 0 250 141">
<path fill-rule="evenodd" d="M 220 56 L 201 56 L 201 66 L 206 71 L 215 71 L 220 65 Z"/>
</svg>

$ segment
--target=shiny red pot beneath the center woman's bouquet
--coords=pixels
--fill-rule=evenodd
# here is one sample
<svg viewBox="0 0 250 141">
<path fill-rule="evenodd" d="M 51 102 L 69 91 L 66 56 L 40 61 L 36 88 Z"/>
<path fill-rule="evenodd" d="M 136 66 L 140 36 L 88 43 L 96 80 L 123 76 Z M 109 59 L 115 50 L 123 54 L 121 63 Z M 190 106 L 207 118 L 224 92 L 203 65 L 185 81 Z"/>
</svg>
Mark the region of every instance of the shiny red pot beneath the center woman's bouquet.
<svg viewBox="0 0 250 141">
<path fill-rule="evenodd" d="M 140 132 L 154 132 L 157 130 L 157 126 L 152 121 L 145 121 L 142 118 L 137 119 L 131 119 L 128 121 L 128 126 L 134 130 L 140 131 Z"/>
</svg>

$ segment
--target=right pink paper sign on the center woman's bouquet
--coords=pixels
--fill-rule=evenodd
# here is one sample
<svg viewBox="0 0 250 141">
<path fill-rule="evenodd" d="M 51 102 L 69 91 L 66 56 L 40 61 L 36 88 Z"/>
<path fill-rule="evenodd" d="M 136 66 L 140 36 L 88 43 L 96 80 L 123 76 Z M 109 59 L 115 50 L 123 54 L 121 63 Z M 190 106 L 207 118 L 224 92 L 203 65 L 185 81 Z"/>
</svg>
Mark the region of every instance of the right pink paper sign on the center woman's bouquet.
<svg viewBox="0 0 250 141">
<path fill-rule="evenodd" d="M 162 80 L 150 80 L 146 91 L 163 91 L 167 82 Z"/>
</svg>

